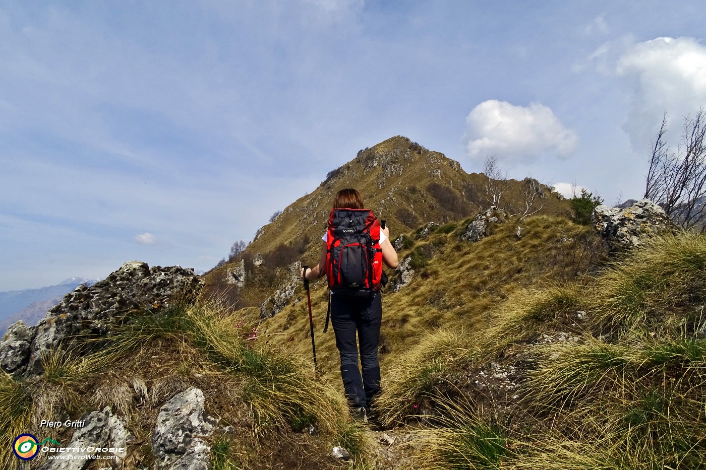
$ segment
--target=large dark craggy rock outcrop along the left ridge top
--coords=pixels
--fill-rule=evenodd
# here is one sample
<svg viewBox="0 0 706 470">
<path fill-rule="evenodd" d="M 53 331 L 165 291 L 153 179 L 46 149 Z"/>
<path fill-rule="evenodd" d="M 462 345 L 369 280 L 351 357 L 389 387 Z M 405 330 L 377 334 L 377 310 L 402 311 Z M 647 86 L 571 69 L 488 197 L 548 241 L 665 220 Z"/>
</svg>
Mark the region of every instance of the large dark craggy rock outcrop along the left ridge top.
<svg viewBox="0 0 706 470">
<path fill-rule="evenodd" d="M 8 373 L 39 375 L 49 351 L 70 347 L 72 354 L 88 354 L 103 346 L 101 339 L 128 313 L 152 314 L 175 301 L 193 300 L 202 286 L 191 269 L 125 263 L 106 279 L 66 294 L 36 326 L 12 325 L 0 341 L 0 366 Z"/>
</svg>

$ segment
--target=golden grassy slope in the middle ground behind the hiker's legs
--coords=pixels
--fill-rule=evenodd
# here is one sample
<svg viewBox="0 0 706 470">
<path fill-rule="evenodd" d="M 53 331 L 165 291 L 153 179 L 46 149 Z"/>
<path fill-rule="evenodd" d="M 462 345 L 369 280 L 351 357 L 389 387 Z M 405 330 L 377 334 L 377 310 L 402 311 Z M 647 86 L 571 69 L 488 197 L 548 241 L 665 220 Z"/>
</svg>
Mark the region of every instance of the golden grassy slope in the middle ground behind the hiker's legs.
<svg viewBox="0 0 706 470">
<path fill-rule="evenodd" d="M 440 227 L 424 238 L 410 232 L 400 261 L 418 256 L 424 263 L 400 291 L 383 292 L 381 366 L 383 377 L 401 354 L 407 354 L 426 332 L 450 326 L 468 334 L 485 330 L 493 308 L 523 288 L 574 279 L 585 275 L 604 257 L 602 241 L 590 228 L 561 217 L 534 216 L 517 223 L 506 222 L 476 243 L 459 241 L 467 223 Z M 388 270 L 389 271 L 389 270 Z M 394 272 L 390 272 L 394 275 Z M 323 334 L 327 308 L 325 278 L 311 284 L 316 352 L 321 372 L 340 384 L 339 358 L 333 331 Z M 253 321 L 259 311 L 251 309 Z M 306 293 L 299 287 L 294 301 L 283 311 L 261 323 L 268 341 L 279 344 L 311 361 L 309 313 Z M 391 375 L 395 375 L 392 373 Z"/>
</svg>

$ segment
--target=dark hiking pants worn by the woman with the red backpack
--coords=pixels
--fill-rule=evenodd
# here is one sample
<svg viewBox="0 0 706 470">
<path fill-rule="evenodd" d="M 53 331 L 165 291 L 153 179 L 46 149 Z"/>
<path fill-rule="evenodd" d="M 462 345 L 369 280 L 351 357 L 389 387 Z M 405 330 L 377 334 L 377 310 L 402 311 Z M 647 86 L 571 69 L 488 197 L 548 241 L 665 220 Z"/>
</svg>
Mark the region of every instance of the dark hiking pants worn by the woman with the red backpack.
<svg viewBox="0 0 706 470">
<path fill-rule="evenodd" d="M 341 356 L 341 378 L 348 404 L 354 408 L 371 406 L 381 390 L 378 341 L 382 318 L 380 292 L 372 298 L 331 295 L 331 324 Z"/>
</svg>

